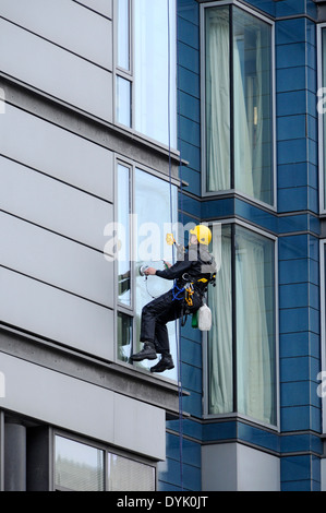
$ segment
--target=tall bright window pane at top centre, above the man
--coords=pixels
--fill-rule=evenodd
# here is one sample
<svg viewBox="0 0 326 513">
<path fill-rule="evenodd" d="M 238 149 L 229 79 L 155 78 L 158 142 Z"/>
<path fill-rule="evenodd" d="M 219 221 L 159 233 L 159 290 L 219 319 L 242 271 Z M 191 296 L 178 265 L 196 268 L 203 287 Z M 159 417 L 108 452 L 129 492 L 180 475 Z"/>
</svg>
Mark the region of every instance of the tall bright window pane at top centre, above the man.
<svg viewBox="0 0 326 513">
<path fill-rule="evenodd" d="M 137 0 L 134 16 L 135 129 L 177 147 L 176 0 Z"/>
</svg>

